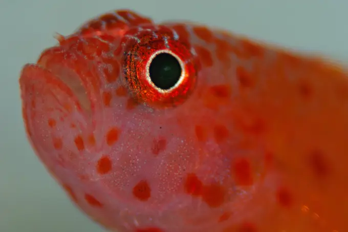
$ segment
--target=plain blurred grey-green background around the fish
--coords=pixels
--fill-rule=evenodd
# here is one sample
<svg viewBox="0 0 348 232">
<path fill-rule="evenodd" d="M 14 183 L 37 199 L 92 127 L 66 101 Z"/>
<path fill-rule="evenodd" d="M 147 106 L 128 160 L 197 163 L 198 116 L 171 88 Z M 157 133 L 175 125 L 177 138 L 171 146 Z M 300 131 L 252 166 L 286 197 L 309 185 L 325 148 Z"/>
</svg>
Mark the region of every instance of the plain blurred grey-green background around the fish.
<svg viewBox="0 0 348 232">
<path fill-rule="evenodd" d="M 20 112 L 18 75 L 27 62 L 90 17 L 130 8 L 155 20 L 190 19 L 348 61 L 346 0 L 0 0 L 0 231 L 101 232 L 38 162 Z"/>
</svg>

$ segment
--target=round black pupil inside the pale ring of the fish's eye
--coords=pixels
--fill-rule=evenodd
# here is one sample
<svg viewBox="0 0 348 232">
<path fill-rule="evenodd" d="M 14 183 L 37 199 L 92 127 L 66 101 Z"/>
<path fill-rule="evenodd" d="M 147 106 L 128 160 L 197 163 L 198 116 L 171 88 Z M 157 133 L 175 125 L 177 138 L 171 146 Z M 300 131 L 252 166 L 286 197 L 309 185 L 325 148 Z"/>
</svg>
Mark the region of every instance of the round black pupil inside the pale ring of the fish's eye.
<svg viewBox="0 0 348 232">
<path fill-rule="evenodd" d="M 168 53 L 160 53 L 151 61 L 149 75 L 155 86 L 168 90 L 179 81 L 181 66 L 176 57 Z"/>
</svg>

